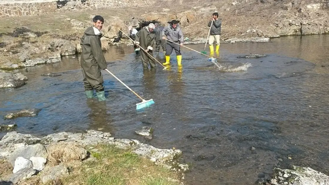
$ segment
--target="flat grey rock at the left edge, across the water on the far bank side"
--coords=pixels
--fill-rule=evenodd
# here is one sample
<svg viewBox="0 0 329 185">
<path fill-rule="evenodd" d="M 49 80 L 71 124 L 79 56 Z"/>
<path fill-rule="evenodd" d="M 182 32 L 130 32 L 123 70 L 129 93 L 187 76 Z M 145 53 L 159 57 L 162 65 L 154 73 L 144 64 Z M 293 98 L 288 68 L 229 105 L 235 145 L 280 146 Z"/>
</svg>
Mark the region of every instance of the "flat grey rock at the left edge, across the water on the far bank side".
<svg viewBox="0 0 329 185">
<path fill-rule="evenodd" d="M 0 88 L 21 87 L 26 81 L 27 77 L 21 73 L 0 73 Z"/>
</svg>

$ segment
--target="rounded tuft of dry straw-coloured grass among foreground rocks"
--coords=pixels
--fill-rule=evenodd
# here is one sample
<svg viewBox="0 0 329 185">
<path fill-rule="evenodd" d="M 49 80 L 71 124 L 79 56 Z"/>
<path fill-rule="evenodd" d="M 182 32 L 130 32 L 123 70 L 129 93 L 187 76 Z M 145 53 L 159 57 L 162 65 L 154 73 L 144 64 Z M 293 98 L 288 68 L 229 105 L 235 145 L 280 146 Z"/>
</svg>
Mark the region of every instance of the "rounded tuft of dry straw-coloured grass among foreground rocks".
<svg viewBox="0 0 329 185">
<path fill-rule="evenodd" d="M 83 160 L 87 151 L 74 142 L 60 142 L 50 145 L 48 148 L 48 164 L 57 165 L 63 162 Z"/>
</svg>

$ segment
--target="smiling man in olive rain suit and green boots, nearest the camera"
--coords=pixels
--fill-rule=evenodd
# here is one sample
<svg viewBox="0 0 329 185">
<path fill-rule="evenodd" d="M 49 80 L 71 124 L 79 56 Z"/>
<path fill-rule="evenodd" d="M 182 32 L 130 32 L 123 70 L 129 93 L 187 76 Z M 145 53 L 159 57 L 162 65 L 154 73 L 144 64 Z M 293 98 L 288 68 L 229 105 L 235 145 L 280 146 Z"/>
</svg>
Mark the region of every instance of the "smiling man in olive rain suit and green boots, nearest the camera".
<svg viewBox="0 0 329 185">
<path fill-rule="evenodd" d="M 104 18 L 96 15 L 93 19 L 93 26 L 87 28 L 85 34 L 81 37 L 81 67 L 83 74 L 83 82 L 87 98 L 93 98 L 93 90 L 99 101 L 105 101 L 105 92 L 103 86 L 103 76 L 101 70 L 107 68 L 107 64 L 103 55 L 101 46 L 102 34 L 100 30 L 103 28 Z"/>
</svg>

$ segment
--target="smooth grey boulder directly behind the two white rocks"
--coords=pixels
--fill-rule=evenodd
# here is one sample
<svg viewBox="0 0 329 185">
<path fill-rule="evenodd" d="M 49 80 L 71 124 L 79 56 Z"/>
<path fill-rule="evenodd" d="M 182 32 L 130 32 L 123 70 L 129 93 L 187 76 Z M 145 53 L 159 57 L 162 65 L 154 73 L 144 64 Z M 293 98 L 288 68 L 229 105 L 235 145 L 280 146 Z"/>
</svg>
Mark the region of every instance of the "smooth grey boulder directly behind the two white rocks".
<svg viewBox="0 0 329 185">
<path fill-rule="evenodd" d="M 12 165 L 14 165 L 14 162 L 17 157 L 24 157 L 26 159 L 30 159 L 31 157 L 43 157 L 47 158 L 47 150 L 46 148 L 41 144 L 35 144 L 35 145 L 28 145 L 20 147 L 13 151 L 12 154 L 7 158 L 8 162 L 10 162 Z"/>
</svg>

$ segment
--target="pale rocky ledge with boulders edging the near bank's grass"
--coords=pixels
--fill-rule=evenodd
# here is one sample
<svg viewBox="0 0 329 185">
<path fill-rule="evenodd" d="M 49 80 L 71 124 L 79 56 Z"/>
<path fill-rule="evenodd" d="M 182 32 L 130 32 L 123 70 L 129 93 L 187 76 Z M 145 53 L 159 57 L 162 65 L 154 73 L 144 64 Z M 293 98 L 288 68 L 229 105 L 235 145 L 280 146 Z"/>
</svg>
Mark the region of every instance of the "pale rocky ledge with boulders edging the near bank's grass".
<svg viewBox="0 0 329 185">
<path fill-rule="evenodd" d="M 90 156 L 85 147 L 100 143 L 131 149 L 134 153 L 169 169 L 182 170 L 182 172 L 188 169 L 188 165 L 176 161 L 182 154 L 181 150 L 158 149 L 133 139 L 114 139 L 106 132 L 96 130 L 88 130 L 87 133 L 61 132 L 43 138 L 9 132 L 0 141 L 0 158 L 8 159 L 14 167 L 13 174 L 5 180 L 19 183 L 39 172 L 43 183 L 55 180 L 69 174 L 67 167 L 63 165 L 65 162 L 88 159 Z"/>
</svg>

